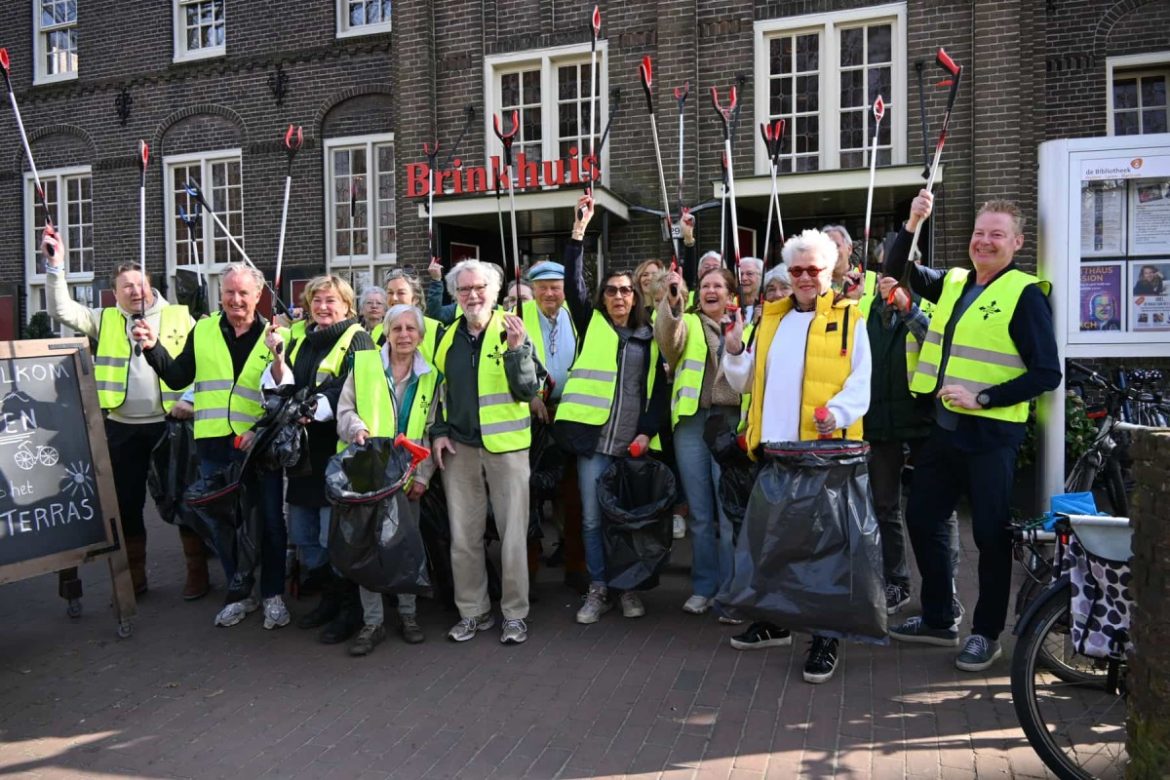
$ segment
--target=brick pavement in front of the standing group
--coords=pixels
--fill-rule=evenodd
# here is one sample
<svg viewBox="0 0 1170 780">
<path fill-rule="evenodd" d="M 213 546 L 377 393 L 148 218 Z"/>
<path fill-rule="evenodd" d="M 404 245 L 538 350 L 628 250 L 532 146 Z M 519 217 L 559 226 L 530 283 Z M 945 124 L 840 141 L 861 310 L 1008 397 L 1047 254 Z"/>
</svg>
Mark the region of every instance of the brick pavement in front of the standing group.
<svg viewBox="0 0 1170 780">
<path fill-rule="evenodd" d="M 447 642 L 455 616 L 424 601 L 425 644 L 392 635 L 351 658 L 294 626 L 266 631 L 259 613 L 214 628 L 222 591 L 183 602 L 177 534 L 149 522 L 151 592 L 130 640 L 115 636 L 104 566 L 82 570 L 77 621 L 54 579 L 0 588 L 0 775 L 1045 776 L 1006 660 L 966 675 L 950 650 L 852 644 L 832 681 L 807 685 L 806 637 L 737 653 L 734 629 L 681 612 L 682 554 L 641 620 L 615 610 L 576 624 L 552 570 L 524 646 L 500 646 L 495 630 Z M 964 547 L 973 560 L 969 533 Z"/>
</svg>

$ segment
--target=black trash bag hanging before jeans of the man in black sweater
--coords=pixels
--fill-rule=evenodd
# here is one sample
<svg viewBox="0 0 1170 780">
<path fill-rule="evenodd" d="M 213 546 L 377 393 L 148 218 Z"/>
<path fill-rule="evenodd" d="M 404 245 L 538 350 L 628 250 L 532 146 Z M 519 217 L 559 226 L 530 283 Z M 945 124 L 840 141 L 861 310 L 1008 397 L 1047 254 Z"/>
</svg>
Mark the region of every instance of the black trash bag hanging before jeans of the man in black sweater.
<svg viewBox="0 0 1170 780">
<path fill-rule="evenodd" d="M 209 477 L 200 477 L 183 495 L 187 510 L 198 518 L 197 532 L 219 553 L 235 574 L 227 584 L 227 601 L 252 594 L 260 564 L 263 519 L 261 488 L 248 463 L 232 463 Z"/>
</svg>

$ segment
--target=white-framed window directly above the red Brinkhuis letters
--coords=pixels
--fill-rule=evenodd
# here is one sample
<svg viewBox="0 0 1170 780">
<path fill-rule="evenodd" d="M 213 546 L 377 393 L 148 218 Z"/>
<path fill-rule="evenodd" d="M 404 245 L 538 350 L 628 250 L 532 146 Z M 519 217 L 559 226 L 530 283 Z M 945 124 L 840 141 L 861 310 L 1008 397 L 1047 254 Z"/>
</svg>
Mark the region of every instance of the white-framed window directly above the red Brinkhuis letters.
<svg viewBox="0 0 1170 780">
<path fill-rule="evenodd" d="M 600 141 L 608 115 L 608 77 L 605 41 L 597 44 L 597 116 L 593 143 Z M 512 111 L 519 112 L 519 131 L 512 141 L 512 154 L 523 152 L 525 163 L 570 160 L 576 157 L 581 167 L 590 153 L 590 47 L 577 44 L 542 51 L 488 57 L 483 64 L 488 84 L 484 116 L 488 156 L 503 154 L 493 131 L 493 117 L 500 115 L 507 131 Z M 607 141 L 608 143 L 608 141 Z M 605 180 L 608 154 L 601 151 L 601 179 Z M 542 181 L 548 184 L 542 172 Z M 567 184 L 570 174 L 566 171 Z"/>
</svg>

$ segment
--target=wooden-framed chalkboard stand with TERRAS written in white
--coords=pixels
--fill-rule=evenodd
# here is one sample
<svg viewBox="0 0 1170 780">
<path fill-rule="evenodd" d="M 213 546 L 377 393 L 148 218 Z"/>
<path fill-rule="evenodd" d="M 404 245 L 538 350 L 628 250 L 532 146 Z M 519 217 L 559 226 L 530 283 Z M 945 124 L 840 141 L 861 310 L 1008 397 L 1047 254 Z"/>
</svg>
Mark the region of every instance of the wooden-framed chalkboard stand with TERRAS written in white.
<svg viewBox="0 0 1170 780">
<path fill-rule="evenodd" d="M 36 358 L 43 358 L 44 363 L 37 363 Z M 53 384 L 46 381 L 37 382 L 43 366 L 49 365 Z M 40 368 L 40 373 L 33 371 L 33 366 Z M 118 636 L 125 639 L 133 633 L 131 619 L 137 614 L 135 601 L 133 582 L 130 578 L 130 565 L 126 560 L 125 547 L 122 545 L 123 532 L 122 520 L 118 515 L 118 499 L 113 488 L 113 472 L 110 465 L 110 451 L 105 443 L 105 424 L 102 409 L 97 401 L 97 385 L 94 380 L 94 360 L 90 356 L 89 343 L 78 339 L 44 339 L 26 341 L 0 341 L 0 399 L 5 407 L 0 409 L 0 465 L 8 467 L 12 462 L 11 443 L 4 442 L 4 432 L 13 426 L 19 426 L 20 421 L 27 417 L 9 413 L 8 401 L 14 394 L 27 400 L 39 408 L 37 416 L 41 417 L 37 424 L 54 424 L 57 439 L 54 443 L 64 441 L 61 447 L 53 448 L 53 464 L 47 464 L 43 460 L 34 463 L 33 467 L 20 465 L 19 469 L 49 469 L 60 468 L 62 471 L 61 484 L 68 488 L 73 472 L 66 471 L 66 464 L 56 462 L 56 450 L 66 446 L 74 454 L 74 462 L 88 458 L 91 472 L 87 472 L 87 489 L 90 491 L 90 505 L 96 505 L 99 511 L 97 517 L 89 520 L 89 525 L 77 522 L 70 529 L 84 530 L 85 538 L 78 544 L 70 544 L 66 534 L 56 534 L 50 546 L 43 551 L 34 551 L 27 557 L 18 560 L 0 558 L 0 585 L 18 580 L 39 577 L 53 572 L 60 572 L 58 587 L 62 598 L 69 600 L 70 616 L 80 614 L 81 581 L 76 579 L 76 573 L 71 570 L 82 564 L 105 560 L 110 571 L 110 580 L 113 594 L 113 612 L 117 619 Z M 64 394 L 66 399 L 61 400 Z M 80 399 L 80 401 L 78 401 Z M 49 417 L 49 420 L 46 420 Z M 16 422 L 13 422 L 16 420 Z M 27 426 L 26 426 L 27 427 Z M 32 436 L 32 435 L 30 435 Z M 77 437 L 83 437 L 77 442 Z M 34 440 L 35 441 L 35 440 Z M 23 444 L 22 444 L 23 447 Z M 48 449 L 39 447 L 36 450 Z M 50 460 L 50 458 L 46 458 Z M 27 461 L 27 456 L 26 456 Z M 16 485 L 12 483 L 12 477 L 22 476 L 19 469 L 8 467 L 0 472 L 4 479 L 0 484 L 11 488 L 15 493 Z M 55 475 L 53 475 L 55 476 Z M 51 477 L 50 477 L 51 479 Z M 9 490 L 5 490 L 5 496 Z M 20 509 L 14 503 L 15 496 L 0 499 L 0 510 Z M 2 516 L 0 516 L 2 517 Z M 99 524 L 95 526 L 92 524 Z M 27 527 L 27 524 L 26 524 Z M 6 539 L 4 533 L 8 527 L 0 527 L 0 554 L 4 553 L 6 541 L 12 543 L 12 538 Z M 8 555 L 11 558 L 11 555 Z"/>
</svg>

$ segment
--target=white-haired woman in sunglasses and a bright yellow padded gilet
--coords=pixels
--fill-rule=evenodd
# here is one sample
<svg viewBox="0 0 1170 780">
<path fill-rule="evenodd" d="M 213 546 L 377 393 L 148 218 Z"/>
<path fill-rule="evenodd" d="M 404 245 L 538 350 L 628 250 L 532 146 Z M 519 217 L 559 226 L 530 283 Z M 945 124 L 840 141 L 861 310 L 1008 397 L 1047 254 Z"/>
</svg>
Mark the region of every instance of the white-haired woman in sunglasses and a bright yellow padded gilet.
<svg viewBox="0 0 1170 780">
<path fill-rule="evenodd" d="M 792 296 L 764 304 L 751 350 L 744 348 L 739 316 L 724 344 L 728 381 L 738 392 L 751 393 L 746 440 L 752 457 L 764 442 L 860 440 L 861 417 L 869 408 L 869 338 L 856 302 L 833 294 L 837 246 L 820 230 L 805 230 L 785 242 L 782 255 Z M 828 410 L 824 420 L 817 419 L 818 407 Z M 791 642 L 787 629 L 758 622 L 734 636 L 731 647 L 745 650 Z M 813 636 L 805 681 L 823 683 L 832 677 L 837 655 L 838 640 Z"/>
</svg>

